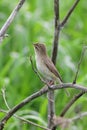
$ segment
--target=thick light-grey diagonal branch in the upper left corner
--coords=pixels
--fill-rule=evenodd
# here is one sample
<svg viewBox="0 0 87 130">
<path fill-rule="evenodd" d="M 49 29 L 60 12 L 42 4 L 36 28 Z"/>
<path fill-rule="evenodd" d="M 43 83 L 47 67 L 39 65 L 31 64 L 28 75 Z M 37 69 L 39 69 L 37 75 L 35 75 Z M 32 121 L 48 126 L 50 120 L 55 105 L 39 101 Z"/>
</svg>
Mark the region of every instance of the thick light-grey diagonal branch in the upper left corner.
<svg viewBox="0 0 87 130">
<path fill-rule="evenodd" d="M 22 7 L 22 5 L 24 4 L 25 0 L 20 0 L 19 3 L 17 4 L 17 6 L 15 7 L 15 9 L 12 11 L 12 13 L 10 14 L 10 16 L 8 17 L 7 21 L 5 22 L 5 24 L 3 25 L 3 27 L 0 30 L 0 42 L 2 42 L 5 33 L 8 29 L 8 27 L 10 26 L 10 24 L 12 23 L 12 21 L 14 20 L 15 16 L 17 15 L 18 11 L 20 10 L 20 8 Z"/>
</svg>

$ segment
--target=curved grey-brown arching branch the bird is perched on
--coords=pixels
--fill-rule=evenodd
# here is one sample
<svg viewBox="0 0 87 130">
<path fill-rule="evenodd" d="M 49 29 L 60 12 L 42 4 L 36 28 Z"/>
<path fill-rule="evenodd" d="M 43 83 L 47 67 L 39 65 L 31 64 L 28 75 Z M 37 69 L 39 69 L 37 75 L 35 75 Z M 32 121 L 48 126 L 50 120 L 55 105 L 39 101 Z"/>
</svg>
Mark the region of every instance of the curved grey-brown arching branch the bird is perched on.
<svg viewBox="0 0 87 130">
<path fill-rule="evenodd" d="M 52 89 L 52 90 L 63 89 L 63 88 L 64 89 L 65 88 L 78 89 L 78 90 L 81 90 L 81 91 L 84 91 L 85 93 L 87 93 L 87 88 L 86 87 L 78 85 L 78 84 L 72 84 L 72 83 L 63 83 L 63 84 L 60 84 L 60 85 L 52 85 L 50 87 L 50 89 Z M 47 93 L 48 90 L 49 90 L 48 87 L 44 87 L 44 88 L 40 89 L 38 92 L 36 92 L 36 93 L 32 94 L 31 96 L 27 97 L 26 99 L 21 101 L 18 105 L 16 105 L 11 110 L 9 110 L 9 112 L 6 114 L 6 116 L 0 122 L 0 130 L 3 130 L 4 125 L 13 116 L 13 114 L 15 114 L 19 109 L 21 109 L 27 103 L 29 103 L 32 100 L 42 96 L 45 93 Z"/>
</svg>

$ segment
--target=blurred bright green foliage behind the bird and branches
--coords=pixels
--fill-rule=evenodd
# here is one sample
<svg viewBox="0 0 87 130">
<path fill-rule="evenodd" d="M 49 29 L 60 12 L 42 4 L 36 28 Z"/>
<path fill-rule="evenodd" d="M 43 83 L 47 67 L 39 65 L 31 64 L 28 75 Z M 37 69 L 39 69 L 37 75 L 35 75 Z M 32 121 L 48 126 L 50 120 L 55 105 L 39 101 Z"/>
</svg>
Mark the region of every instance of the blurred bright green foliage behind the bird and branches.
<svg viewBox="0 0 87 130">
<path fill-rule="evenodd" d="M 16 6 L 18 0 L 0 0 L 0 28 Z M 74 0 L 60 1 L 60 21 L 64 18 Z M 32 55 L 34 65 L 33 43 L 44 42 L 49 56 L 52 52 L 54 35 L 53 0 L 26 1 L 13 23 L 7 30 L 8 38 L 0 45 L 0 108 L 7 110 L 1 90 L 5 88 L 6 99 L 10 108 L 18 104 L 27 96 L 38 91 L 43 83 L 33 72 L 29 56 Z M 87 1 L 80 1 L 67 24 L 60 34 L 57 68 L 64 82 L 72 82 L 77 70 L 80 54 L 87 45 Z M 84 55 L 78 79 L 78 84 L 87 85 L 87 52 Z M 69 89 L 70 97 L 63 90 L 55 93 L 56 113 L 59 115 L 70 98 L 78 90 Z M 67 112 L 66 117 L 76 116 L 87 110 L 86 94 L 81 97 Z M 62 102 L 60 102 L 62 101 Z M 47 95 L 30 102 L 17 112 L 25 119 L 35 121 L 40 125 L 47 125 Z M 0 118 L 4 116 L 0 113 Z M 83 130 L 87 127 L 87 118 L 74 122 L 67 130 Z M 5 130 L 40 130 L 27 125 L 16 118 L 11 118 Z"/>
</svg>

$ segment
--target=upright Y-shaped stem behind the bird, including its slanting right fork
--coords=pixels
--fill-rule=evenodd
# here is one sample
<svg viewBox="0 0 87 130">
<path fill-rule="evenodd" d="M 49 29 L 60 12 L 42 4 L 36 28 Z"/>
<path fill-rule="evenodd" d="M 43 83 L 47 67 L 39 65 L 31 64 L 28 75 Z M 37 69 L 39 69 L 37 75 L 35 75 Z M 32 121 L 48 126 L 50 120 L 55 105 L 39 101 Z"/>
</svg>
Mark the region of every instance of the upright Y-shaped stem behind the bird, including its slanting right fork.
<svg viewBox="0 0 87 130">
<path fill-rule="evenodd" d="M 71 13 L 75 9 L 76 5 L 79 3 L 80 0 L 76 0 L 74 5 L 71 7 L 67 15 L 65 16 L 64 20 L 60 23 L 60 12 L 59 12 L 59 0 L 54 0 L 54 15 L 55 15 L 55 29 L 54 29 L 54 40 L 53 40 L 53 50 L 52 50 L 52 61 L 54 65 L 56 64 L 56 59 L 58 55 L 58 47 L 59 47 L 59 34 L 61 27 L 67 22 L 68 18 L 70 17 Z M 49 90 L 48 92 L 48 128 L 52 130 L 56 130 L 56 127 L 53 126 L 53 116 L 55 115 L 55 99 L 54 99 L 54 91 Z"/>
</svg>

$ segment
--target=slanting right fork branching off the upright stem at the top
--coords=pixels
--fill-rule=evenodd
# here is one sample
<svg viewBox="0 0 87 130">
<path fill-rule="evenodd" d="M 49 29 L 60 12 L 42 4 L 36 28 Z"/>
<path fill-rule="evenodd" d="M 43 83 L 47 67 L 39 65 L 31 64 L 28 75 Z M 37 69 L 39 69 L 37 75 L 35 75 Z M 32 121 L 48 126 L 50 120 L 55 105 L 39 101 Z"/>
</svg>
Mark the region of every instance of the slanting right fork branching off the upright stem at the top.
<svg viewBox="0 0 87 130">
<path fill-rule="evenodd" d="M 73 13 L 74 9 L 76 8 L 77 4 L 80 0 L 76 0 L 71 9 L 68 11 L 67 15 L 65 16 L 64 20 L 60 23 L 60 27 L 64 27 L 64 25 L 67 23 L 70 15 Z"/>
</svg>

